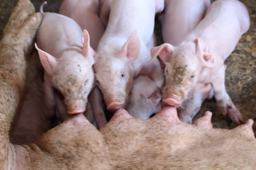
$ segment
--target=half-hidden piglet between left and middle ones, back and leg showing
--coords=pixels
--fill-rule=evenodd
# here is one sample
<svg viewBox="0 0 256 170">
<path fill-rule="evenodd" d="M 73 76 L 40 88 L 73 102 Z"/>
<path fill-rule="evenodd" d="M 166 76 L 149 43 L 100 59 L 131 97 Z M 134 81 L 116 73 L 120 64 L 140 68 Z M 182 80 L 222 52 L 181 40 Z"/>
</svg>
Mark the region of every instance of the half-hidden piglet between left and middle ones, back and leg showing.
<svg viewBox="0 0 256 170">
<path fill-rule="evenodd" d="M 105 28 L 97 15 L 99 6 L 99 0 L 64 0 L 59 10 L 60 14 L 73 18 L 82 29 L 88 31 L 90 35 L 90 44 L 92 45 L 93 50 L 96 50 L 100 38 L 102 38 L 105 31 Z M 103 108 L 104 104 L 102 103 L 102 94 L 100 94 L 98 89 L 92 91 L 90 101 L 97 127 L 102 128 L 107 121 Z"/>
</svg>

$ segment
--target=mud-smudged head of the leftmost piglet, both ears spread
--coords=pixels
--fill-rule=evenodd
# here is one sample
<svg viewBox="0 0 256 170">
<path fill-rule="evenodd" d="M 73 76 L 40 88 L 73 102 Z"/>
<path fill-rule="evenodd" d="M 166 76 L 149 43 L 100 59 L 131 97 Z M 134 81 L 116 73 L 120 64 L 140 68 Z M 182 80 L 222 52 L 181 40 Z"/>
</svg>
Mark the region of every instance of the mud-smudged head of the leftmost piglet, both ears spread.
<svg viewBox="0 0 256 170">
<path fill-rule="evenodd" d="M 82 50 L 69 50 L 58 59 L 36 46 L 46 71 L 45 81 L 63 94 L 70 114 L 85 111 L 87 96 L 94 82 L 92 64 L 95 52 L 90 47 L 87 31 L 84 31 L 82 39 Z"/>
</svg>

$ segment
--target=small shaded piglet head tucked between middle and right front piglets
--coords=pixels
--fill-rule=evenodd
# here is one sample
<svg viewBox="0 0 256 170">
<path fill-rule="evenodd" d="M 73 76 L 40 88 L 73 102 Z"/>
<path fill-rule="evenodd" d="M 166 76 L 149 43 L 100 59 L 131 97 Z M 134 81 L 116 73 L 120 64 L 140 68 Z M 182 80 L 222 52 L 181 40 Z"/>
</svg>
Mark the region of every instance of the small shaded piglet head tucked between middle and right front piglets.
<svg viewBox="0 0 256 170">
<path fill-rule="evenodd" d="M 127 111 L 134 118 L 147 119 L 160 108 L 159 88 L 149 77 L 139 75 L 134 79 Z"/>
</svg>

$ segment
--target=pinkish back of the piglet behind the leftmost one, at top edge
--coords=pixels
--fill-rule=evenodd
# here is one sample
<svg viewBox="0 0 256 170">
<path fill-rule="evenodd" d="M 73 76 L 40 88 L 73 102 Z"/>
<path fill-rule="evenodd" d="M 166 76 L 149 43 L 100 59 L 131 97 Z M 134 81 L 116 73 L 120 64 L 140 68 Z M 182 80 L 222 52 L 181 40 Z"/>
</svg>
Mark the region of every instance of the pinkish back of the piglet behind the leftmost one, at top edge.
<svg viewBox="0 0 256 170">
<path fill-rule="evenodd" d="M 97 16 L 99 4 L 100 0 L 64 0 L 59 10 L 60 14 L 73 18 L 82 30 L 88 31 L 94 50 L 105 30 Z"/>
</svg>

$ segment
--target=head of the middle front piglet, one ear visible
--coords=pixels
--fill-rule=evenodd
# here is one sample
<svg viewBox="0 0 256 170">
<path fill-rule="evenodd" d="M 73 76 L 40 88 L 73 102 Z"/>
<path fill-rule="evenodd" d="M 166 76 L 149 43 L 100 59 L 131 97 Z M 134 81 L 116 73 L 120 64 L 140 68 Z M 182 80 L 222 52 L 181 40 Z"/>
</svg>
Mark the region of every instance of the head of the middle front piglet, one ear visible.
<svg viewBox="0 0 256 170">
<path fill-rule="evenodd" d="M 139 39 L 136 33 L 122 47 L 118 46 L 117 41 L 113 40 L 96 55 L 97 86 L 102 91 L 109 111 L 123 108 L 127 102 L 127 94 L 132 89 L 133 72 L 130 62 L 139 56 Z"/>
</svg>

